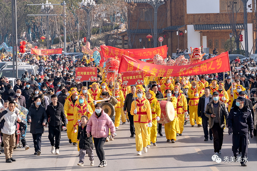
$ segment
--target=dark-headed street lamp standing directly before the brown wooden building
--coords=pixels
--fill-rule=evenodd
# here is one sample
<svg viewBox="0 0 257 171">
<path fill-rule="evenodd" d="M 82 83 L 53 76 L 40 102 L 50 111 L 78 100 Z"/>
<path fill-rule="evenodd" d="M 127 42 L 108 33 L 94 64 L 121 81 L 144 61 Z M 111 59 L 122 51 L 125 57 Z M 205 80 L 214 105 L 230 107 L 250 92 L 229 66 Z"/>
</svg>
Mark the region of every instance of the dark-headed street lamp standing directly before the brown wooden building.
<svg viewBox="0 0 257 171">
<path fill-rule="evenodd" d="M 154 8 L 154 48 L 157 47 L 157 9 L 164 4 L 164 0 L 148 0 L 147 3 Z"/>
</svg>

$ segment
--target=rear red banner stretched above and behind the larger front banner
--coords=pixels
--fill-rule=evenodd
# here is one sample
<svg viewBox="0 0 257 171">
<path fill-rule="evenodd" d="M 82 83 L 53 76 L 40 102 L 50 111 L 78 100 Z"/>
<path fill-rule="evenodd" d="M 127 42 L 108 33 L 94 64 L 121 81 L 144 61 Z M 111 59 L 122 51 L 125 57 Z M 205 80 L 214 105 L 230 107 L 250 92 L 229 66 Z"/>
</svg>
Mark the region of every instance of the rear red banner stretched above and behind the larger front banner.
<svg viewBox="0 0 257 171">
<path fill-rule="evenodd" d="M 167 45 L 146 49 L 119 49 L 112 46 L 101 46 L 101 51 L 105 59 L 115 58 L 117 56 L 119 60 L 121 60 L 122 55 L 130 56 L 134 59 L 153 59 L 154 55 L 159 54 L 163 58 L 167 58 L 167 50 Z"/>
</svg>

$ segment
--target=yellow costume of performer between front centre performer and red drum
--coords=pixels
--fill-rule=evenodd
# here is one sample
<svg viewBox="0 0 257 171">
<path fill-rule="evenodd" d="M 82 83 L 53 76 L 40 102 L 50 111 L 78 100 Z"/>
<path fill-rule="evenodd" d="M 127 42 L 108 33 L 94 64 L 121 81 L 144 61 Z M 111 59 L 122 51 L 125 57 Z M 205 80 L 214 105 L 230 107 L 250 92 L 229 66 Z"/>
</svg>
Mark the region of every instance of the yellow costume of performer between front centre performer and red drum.
<svg viewBox="0 0 257 171">
<path fill-rule="evenodd" d="M 151 90 L 149 92 L 152 94 L 152 97 L 149 100 L 151 111 L 152 111 L 152 127 L 148 127 L 148 145 L 156 142 L 157 137 L 157 121 L 156 117 L 160 117 L 160 102 L 156 99 L 155 93 Z"/>
</svg>

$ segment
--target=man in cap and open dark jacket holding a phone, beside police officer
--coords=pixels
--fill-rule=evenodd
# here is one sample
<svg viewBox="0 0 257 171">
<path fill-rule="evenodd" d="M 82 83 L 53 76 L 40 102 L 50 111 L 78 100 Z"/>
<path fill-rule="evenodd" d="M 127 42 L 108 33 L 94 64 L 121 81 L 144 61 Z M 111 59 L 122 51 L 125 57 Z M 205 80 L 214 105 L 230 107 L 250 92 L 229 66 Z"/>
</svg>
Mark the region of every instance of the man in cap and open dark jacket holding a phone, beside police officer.
<svg viewBox="0 0 257 171">
<path fill-rule="evenodd" d="M 212 99 L 207 104 L 205 116 L 209 118 L 210 129 L 212 129 L 213 144 L 215 155 L 221 154 L 221 147 L 223 143 L 223 129 L 225 127 L 225 120 L 227 122 L 228 110 L 226 105 L 219 100 L 218 91 L 212 93 Z"/>
</svg>

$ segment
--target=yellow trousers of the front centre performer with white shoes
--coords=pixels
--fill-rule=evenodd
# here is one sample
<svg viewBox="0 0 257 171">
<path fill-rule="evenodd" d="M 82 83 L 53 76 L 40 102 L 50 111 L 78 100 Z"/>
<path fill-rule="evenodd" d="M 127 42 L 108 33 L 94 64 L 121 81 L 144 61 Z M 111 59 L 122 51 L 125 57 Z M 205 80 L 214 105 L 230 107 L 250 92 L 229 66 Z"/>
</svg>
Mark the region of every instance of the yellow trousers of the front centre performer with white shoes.
<svg viewBox="0 0 257 171">
<path fill-rule="evenodd" d="M 136 151 L 142 151 L 147 146 L 148 131 L 147 123 L 134 122 L 136 133 Z"/>
</svg>

